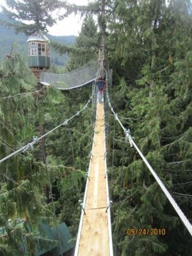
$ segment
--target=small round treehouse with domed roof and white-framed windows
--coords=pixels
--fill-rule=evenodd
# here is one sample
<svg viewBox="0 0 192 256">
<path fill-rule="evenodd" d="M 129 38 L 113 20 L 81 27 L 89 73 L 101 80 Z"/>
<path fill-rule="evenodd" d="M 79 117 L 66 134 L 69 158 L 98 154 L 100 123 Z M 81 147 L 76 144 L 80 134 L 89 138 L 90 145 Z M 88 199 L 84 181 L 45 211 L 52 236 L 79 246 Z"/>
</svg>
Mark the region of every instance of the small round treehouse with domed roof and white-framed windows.
<svg viewBox="0 0 192 256">
<path fill-rule="evenodd" d="M 34 33 L 28 38 L 29 67 L 35 70 L 50 68 L 49 39 L 41 33 Z"/>
</svg>

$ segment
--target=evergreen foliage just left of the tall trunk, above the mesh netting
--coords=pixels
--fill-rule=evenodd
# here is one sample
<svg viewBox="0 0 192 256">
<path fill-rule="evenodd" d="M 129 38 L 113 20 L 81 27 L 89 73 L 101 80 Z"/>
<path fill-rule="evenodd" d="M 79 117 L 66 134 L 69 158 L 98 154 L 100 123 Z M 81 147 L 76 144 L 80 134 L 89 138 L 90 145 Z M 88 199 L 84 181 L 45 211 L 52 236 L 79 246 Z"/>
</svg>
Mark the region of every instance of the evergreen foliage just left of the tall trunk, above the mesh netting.
<svg viewBox="0 0 192 256">
<path fill-rule="evenodd" d="M 88 3 L 87 6 L 79 6 L 76 4 L 68 4 L 66 1 L 61 4 L 61 7 L 65 8 L 66 12 L 64 15 L 61 15 L 60 19 L 64 19 L 71 13 L 81 13 L 82 16 L 85 16 L 84 23 L 79 34 L 78 42 L 76 47 L 67 47 L 66 45 L 60 45 L 56 42 L 52 42 L 52 47 L 60 54 L 71 53 L 72 55 L 70 60 L 70 65 L 75 61 L 76 57 L 79 58 L 79 65 L 83 65 L 89 60 L 95 58 L 95 52 L 99 50 L 100 45 L 104 46 L 104 37 L 106 36 L 106 20 L 105 13 L 109 12 L 108 5 L 111 4 L 111 1 L 108 0 L 98 0 L 94 3 Z M 106 9 L 105 9 L 106 6 Z M 97 26 L 92 18 L 92 15 L 97 15 L 99 33 L 97 33 Z M 74 56 L 74 57 L 73 57 Z M 74 59 L 74 60 L 73 60 Z M 84 61 L 82 61 L 82 59 Z M 78 63 L 77 63 L 78 64 Z M 79 65 L 72 65 L 69 70 L 74 67 L 79 67 Z"/>
</svg>

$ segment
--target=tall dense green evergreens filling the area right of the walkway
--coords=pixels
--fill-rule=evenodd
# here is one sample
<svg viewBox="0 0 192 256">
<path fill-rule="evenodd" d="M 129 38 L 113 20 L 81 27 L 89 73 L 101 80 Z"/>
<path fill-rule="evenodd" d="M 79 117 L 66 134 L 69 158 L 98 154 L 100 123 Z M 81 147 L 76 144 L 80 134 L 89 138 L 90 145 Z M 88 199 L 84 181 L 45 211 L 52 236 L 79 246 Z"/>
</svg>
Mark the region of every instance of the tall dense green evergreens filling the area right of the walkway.
<svg viewBox="0 0 192 256">
<path fill-rule="evenodd" d="M 190 1 L 168 5 L 164 1 L 116 1 L 108 21 L 108 56 L 115 73 L 113 105 L 191 220 Z M 112 200 L 120 205 L 119 213 L 118 206 L 113 207 L 117 255 L 188 255 L 190 235 L 129 145 L 125 145 L 120 189 L 122 147 L 115 141 L 115 166 L 111 168 Z M 151 227 L 166 228 L 167 235 L 132 237 L 124 232 Z"/>
</svg>

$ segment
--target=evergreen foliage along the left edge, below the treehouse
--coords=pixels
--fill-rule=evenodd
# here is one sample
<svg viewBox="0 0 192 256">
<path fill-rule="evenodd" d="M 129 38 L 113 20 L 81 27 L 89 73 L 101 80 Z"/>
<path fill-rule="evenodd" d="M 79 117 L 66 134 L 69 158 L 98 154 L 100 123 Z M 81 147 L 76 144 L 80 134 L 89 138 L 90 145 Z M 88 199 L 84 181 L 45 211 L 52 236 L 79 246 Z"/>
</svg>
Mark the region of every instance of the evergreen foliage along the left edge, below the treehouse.
<svg viewBox="0 0 192 256">
<path fill-rule="evenodd" d="M 13 53 L 1 63 L 1 159 L 28 143 L 34 135 L 35 102 L 38 101 L 35 84 L 35 77 L 19 54 Z M 45 205 L 44 175 L 44 167 L 30 154 L 1 164 L 0 226 L 6 230 L 6 235 L 1 237 L 1 253 L 27 253 L 29 248 L 23 248 L 24 239 L 31 241 L 31 250 L 34 250 L 35 238 L 24 224 L 33 223 L 35 230 L 41 216 L 51 216 L 49 205 L 42 207 Z M 18 221 L 22 221 L 22 225 Z"/>
</svg>

